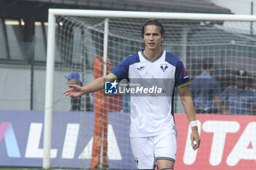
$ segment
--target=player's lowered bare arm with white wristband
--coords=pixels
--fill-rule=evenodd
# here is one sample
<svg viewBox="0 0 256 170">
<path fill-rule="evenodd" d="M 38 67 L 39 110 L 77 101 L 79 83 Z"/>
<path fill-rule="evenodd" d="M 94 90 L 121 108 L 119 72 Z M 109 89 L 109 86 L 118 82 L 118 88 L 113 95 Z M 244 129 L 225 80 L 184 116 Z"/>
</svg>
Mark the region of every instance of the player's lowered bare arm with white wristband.
<svg viewBox="0 0 256 170">
<path fill-rule="evenodd" d="M 184 110 L 187 114 L 187 118 L 189 120 L 189 124 L 192 126 L 191 133 L 191 145 L 193 150 L 197 150 L 200 146 L 200 136 L 198 134 L 198 128 L 196 125 L 196 117 L 195 117 L 195 109 L 192 101 L 192 97 L 190 96 L 187 85 L 181 88 L 178 88 L 178 93 L 181 96 L 181 103 L 183 104 Z M 196 142 L 194 144 L 194 141 Z"/>
</svg>

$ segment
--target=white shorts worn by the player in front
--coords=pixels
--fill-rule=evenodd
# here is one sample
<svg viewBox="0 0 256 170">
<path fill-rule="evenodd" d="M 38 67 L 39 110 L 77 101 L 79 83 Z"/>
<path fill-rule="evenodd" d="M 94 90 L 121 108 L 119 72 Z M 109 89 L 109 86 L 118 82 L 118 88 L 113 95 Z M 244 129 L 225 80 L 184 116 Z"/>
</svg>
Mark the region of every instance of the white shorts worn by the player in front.
<svg viewBox="0 0 256 170">
<path fill-rule="evenodd" d="M 175 161 L 176 132 L 149 137 L 131 137 L 131 147 L 138 169 L 154 169 L 158 159 Z"/>
</svg>

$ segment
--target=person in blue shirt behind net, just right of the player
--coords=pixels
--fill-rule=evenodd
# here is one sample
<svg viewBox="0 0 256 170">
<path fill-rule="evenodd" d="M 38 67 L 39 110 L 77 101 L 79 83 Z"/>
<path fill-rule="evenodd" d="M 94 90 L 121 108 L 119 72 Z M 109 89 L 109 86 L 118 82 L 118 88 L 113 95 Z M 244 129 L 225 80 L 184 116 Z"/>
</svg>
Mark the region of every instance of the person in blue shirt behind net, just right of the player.
<svg viewBox="0 0 256 170">
<path fill-rule="evenodd" d="M 221 112 L 219 82 L 211 77 L 213 64 L 212 58 L 203 58 L 202 73 L 195 77 L 189 85 L 196 113 L 217 114 Z"/>
</svg>

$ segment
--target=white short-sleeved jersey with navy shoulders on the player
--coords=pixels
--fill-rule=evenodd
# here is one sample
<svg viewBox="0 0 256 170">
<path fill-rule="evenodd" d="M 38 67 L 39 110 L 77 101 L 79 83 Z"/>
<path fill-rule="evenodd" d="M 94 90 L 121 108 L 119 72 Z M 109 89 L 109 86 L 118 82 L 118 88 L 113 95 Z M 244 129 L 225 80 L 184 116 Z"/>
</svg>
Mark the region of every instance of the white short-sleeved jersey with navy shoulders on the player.
<svg viewBox="0 0 256 170">
<path fill-rule="evenodd" d="M 122 79 L 170 79 L 170 96 L 131 96 L 131 137 L 154 136 L 174 128 L 174 89 L 189 85 L 186 69 L 180 58 L 162 50 L 154 61 L 146 58 L 143 51 L 129 55 L 110 74 Z"/>
</svg>

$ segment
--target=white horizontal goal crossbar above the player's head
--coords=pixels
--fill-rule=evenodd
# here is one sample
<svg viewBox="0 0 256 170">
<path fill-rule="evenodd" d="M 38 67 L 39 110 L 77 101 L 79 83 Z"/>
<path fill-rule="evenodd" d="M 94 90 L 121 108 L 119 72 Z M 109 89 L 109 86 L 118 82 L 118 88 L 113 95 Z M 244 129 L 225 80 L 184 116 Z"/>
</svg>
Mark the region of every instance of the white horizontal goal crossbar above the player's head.
<svg viewBox="0 0 256 170">
<path fill-rule="evenodd" d="M 185 12 L 139 12 L 110 11 L 92 9 L 49 9 L 49 15 L 104 17 L 104 18 L 158 18 L 173 20 L 225 20 L 225 21 L 256 21 L 256 15 L 205 14 Z"/>
</svg>

